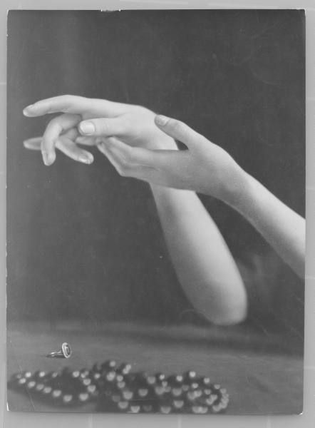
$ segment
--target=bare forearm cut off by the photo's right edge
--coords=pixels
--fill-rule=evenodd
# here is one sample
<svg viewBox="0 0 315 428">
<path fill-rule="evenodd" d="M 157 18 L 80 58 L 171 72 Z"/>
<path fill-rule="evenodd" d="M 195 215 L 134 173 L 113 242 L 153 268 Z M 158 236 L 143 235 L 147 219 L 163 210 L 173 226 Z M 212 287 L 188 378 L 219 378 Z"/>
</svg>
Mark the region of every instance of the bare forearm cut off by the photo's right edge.
<svg viewBox="0 0 315 428">
<path fill-rule="evenodd" d="M 305 220 L 247 173 L 242 174 L 237 197 L 227 201 L 304 277 Z"/>
</svg>

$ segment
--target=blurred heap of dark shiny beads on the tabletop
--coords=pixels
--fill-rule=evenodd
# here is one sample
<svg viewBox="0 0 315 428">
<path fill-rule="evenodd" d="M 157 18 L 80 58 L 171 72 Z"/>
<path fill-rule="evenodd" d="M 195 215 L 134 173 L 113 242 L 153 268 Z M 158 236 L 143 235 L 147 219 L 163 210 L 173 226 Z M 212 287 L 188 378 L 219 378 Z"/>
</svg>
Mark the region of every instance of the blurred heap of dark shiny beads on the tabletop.
<svg viewBox="0 0 315 428">
<path fill-rule="evenodd" d="M 167 376 L 131 368 L 108 360 L 91 370 L 23 372 L 14 374 L 8 386 L 59 406 L 95 402 L 96 412 L 217 414 L 227 409 L 226 389 L 193 370 Z"/>
</svg>

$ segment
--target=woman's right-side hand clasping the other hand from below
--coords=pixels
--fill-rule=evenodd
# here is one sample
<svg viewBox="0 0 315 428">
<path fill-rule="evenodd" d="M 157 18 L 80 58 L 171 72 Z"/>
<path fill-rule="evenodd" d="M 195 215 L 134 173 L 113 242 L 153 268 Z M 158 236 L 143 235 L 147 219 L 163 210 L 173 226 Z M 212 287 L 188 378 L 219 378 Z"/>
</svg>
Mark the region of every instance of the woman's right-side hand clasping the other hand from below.
<svg viewBox="0 0 315 428">
<path fill-rule="evenodd" d="M 120 175 L 153 185 L 195 190 L 226 203 L 237 198 L 246 173 L 224 149 L 175 119 L 156 116 L 155 124 L 167 136 L 184 143 L 187 150 L 130 147 L 115 137 L 106 138 L 98 147 Z"/>
</svg>

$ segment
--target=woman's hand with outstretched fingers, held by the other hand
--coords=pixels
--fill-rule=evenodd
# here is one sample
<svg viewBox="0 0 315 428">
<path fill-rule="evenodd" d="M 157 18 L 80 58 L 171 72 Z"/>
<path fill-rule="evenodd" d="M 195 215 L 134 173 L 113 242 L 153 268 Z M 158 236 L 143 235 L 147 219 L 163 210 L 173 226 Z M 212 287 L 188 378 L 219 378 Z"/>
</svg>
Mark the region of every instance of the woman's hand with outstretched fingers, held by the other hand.
<svg viewBox="0 0 315 428">
<path fill-rule="evenodd" d="M 130 146 L 177 148 L 175 141 L 155 126 L 155 113 L 141 106 L 64 95 L 24 108 L 27 117 L 58 112 L 63 114 L 48 123 L 42 137 L 24 141 L 26 148 L 41 150 L 45 165 L 56 160 L 56 148 L 75 161 L 92 163 L 92 154 L 79 147 L 78 143 L 95 146 L 110 136 L 116 136 Z"/>
</svg>

